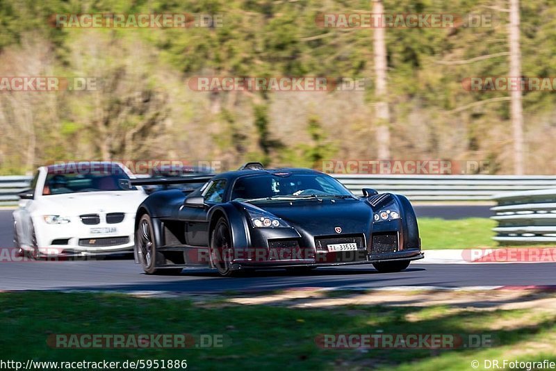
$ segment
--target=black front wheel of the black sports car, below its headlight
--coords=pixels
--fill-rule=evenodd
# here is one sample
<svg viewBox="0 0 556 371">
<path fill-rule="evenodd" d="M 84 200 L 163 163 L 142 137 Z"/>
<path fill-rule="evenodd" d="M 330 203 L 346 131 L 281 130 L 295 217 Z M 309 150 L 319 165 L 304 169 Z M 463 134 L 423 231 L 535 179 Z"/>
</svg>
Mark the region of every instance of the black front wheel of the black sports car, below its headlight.
<svg viewBox="0 0 556 371">
<path fill-rule="evenodd" d="M 228 222 L 224 217 L 221 217 L 213 229 L 211 238 L 211 259 L 220 276 L 231 277 L 236 275 L 236 272 L 231 270 L 233 254 L 234 247 Z"/>
</svg>

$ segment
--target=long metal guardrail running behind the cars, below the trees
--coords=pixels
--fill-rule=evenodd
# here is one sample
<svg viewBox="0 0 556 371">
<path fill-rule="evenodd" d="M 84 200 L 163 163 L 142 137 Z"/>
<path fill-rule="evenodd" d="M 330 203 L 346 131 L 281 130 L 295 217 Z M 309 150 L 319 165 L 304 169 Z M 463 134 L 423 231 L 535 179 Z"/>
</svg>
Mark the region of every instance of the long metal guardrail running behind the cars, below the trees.
<svg viewBox="0 0 556 371">
<path fill-rule="evenodd" d="M 356 195 L 361 195 L 361 188 L 374 188 L 406 195 L 411 201 L 492 201 L 500 192 L 556 188 L 556 176 L 331 175 Z M 0 176 L 0 205 L 16 204 L 17 193 L 30 180 L 30 176 Z"/>
</svg>

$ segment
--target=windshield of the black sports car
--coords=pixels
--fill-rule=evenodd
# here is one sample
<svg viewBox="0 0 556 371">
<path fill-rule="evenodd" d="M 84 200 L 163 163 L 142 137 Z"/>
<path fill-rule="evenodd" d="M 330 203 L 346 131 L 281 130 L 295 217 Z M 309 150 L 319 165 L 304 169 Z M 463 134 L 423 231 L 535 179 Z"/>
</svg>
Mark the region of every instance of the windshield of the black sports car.
<svg viewBox="0 0 556 371">
<path fill-rule="evenodd" d="M 282 173 L 245 176 L 236 181 L 231 199 L 352 197 L 350 191 L 324 174 Z"/>
</svg>

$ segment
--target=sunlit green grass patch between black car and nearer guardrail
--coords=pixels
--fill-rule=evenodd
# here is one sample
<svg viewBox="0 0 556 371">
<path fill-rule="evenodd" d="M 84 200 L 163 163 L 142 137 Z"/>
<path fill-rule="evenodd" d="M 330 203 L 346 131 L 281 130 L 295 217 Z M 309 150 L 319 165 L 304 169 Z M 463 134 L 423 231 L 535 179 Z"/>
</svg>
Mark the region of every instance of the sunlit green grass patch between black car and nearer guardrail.
<svg viewBox="0 0 556 371">
<path fill-rule="evenodd" d="M 424 250 L 499 247 L 492 238 L 494 220 L 471 217 L 459 220 L 419 218 L 419 233 Z"/>
</svg>

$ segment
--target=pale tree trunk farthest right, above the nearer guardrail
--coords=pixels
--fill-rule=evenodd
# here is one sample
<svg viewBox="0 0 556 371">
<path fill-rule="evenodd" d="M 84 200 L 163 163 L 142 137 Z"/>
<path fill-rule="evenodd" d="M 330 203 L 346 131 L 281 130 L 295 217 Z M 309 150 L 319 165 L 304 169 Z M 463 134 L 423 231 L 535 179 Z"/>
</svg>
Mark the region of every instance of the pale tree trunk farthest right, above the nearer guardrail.
<svg viewBox="0 0 556 371">
<path fill-rule="evenodd" d="M 519 0 L 509 0 L 509 76 L 521 78 L 521 51 L 519 50 Z M 514 173 L 522 175 L 523 160 L 523 107 L 521 90 L 514 89 L 512 96 L 512 129 L 514 131 Z"/>
</svg>

